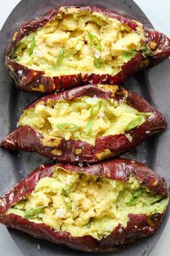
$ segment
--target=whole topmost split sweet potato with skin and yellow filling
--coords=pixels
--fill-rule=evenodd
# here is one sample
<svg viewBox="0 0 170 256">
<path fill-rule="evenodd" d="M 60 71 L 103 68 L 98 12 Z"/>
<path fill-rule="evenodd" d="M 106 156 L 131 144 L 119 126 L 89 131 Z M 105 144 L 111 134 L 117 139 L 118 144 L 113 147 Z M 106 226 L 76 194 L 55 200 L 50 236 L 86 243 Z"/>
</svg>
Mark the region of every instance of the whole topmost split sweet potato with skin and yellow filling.
<svg viewBox="0 0 170 256">
<path fill-rule="evenodd" d="M 140 22 L 99 7 L 61 7 L 14 33 L 5 64 L 17 88 L 49 93 L 121 84 L 168 56 L 169 38 Z"/>
</svg>

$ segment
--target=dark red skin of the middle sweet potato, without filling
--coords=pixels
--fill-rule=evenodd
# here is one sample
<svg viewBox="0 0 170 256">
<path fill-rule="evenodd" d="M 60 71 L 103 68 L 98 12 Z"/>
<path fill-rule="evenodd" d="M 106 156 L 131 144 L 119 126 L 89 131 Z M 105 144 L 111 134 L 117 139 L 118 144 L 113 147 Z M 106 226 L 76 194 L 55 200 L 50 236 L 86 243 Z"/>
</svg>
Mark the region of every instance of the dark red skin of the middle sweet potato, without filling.
<svg viewBox="0 0 170 256">
<path fill-rule="evenodd" d="M 137 93 L 125 90 L 120 86 L 113 89 L 112 85 L 86 85 L 79 88 L 73 88 L 62 93 L 45 95 L 32 103 L 27 108 L 34 107 L 40 101 L 63 101 L 81 96 L 96 95 L 98 98 L 114 98 L 118 102 L 125 101 L 128 105 L 133 106 L 140 112 L 152 112 L 154 116 L 148 118 L 140 127 L 134 128 L 125 134 L 108 135 L 99 137 L 95 140 L 95 145 L 81 140 L 61 139 L 58 145 L 49 147 L 42 144 L 43 135 L 37 132 L 33 127 L 24 125 L 18 127 L 14 132 L 8 135 L 1 142 L 1 147 L 11 150 L 34 151 L 46 158 L 61 161 L 64 163 L 97 163 L 105 158 L 121 155 L 136 148 L 141 142 L 151 137 L 151 135 L 161 132 L 166 128 L 166 119 L 156 111 L 147 101 Z M 132 141 L 127 137 L 130 135 Z M 50 140 L 53 142 L 53 139 Z M 81 153 L 76 154 L 76 150 L 81 149 Z M 53 153 L 53 150 L 59 150 L 60 154 Z M 100 153 L 104 150 L 109 152 L 104 158 L 99 159 Z"/>
</svg>

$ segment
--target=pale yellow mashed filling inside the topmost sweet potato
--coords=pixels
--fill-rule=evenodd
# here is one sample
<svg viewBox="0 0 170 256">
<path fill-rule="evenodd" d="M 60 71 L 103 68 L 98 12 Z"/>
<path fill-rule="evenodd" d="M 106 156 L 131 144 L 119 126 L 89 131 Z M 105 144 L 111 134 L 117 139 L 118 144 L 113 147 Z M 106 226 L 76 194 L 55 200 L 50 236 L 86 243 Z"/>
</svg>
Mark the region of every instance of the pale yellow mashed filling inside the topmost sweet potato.
<svg viewBox="0 0 170 256">
<path fill-rule="evenodd" d="M 61 7 L 52 21 L 17 44 L 11 59 L 54 77 L 79 72 L 114 75 L 136 53 L 146 54 L 144 39 L 139 22 L 133 31 L 100 13 Z"/>
</svg>

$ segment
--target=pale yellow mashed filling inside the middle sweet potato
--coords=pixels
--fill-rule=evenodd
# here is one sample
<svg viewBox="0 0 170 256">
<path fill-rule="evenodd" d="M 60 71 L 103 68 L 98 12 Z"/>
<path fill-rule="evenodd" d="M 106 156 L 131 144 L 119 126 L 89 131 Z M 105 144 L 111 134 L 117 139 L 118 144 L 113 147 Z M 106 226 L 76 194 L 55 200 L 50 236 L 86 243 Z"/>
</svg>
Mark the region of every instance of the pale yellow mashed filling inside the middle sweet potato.
<svg viewBox="0 0 170 256">
<path fill-rule="evenodd" d="M 44 143 L 65 138 L 94 145 L 97 137 L 125 133 L 152 115 L 141 113 L 123 101 L 84 96 L 69 101 L 40 101 L 34 108 L 24 110 L 19 126 L 34 127 L 44 136 Z"/>
</svg>

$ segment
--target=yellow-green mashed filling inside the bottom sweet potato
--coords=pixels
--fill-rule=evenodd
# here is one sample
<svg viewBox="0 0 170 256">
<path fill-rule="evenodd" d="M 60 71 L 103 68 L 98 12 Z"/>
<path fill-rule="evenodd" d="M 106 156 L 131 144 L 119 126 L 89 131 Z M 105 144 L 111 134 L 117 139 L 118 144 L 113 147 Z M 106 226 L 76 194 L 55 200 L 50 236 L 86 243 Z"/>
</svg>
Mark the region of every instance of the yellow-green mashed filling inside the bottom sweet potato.
<svg viewBox="0 0 170 256">
<path fill-rule="evenodd" d="M 108 236 L 128 214 L 164 213 L 168 197 L 153 195 L 135 176 L 128 182 L 69 173 L 56 167 L 52 177 L 37 182 L 35 190 L 6 214 L 15 213 L 71 236 Z"/>
</svg>

